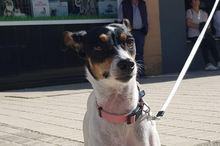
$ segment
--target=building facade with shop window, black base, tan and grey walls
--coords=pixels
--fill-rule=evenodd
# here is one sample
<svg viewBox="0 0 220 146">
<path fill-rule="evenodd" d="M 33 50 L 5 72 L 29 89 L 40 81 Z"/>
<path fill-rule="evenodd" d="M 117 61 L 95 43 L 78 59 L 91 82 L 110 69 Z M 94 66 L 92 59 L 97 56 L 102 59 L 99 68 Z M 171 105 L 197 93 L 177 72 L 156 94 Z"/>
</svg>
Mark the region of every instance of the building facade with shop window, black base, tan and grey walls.
<svg viewBox="0 0 220 146">
<path fill-rule="evenodd" d="M 104 0 L 85 5 L 87 1 L 0 1 L 0 90 L 85 81 L 85 61 L 74 50 L 61 50 L 62 33 L 114 22 L 120 4 Z M 201 3 L 210 12 L 214 0 Z M 185 25 L 190 4 L 188 0 L 146 0 L 146 4 L 150 22 L 144 46 L 146 72 L 178 73 L 192 47 Z M 202 69 L 197 63 L 190 70 Z"/>
</svg>

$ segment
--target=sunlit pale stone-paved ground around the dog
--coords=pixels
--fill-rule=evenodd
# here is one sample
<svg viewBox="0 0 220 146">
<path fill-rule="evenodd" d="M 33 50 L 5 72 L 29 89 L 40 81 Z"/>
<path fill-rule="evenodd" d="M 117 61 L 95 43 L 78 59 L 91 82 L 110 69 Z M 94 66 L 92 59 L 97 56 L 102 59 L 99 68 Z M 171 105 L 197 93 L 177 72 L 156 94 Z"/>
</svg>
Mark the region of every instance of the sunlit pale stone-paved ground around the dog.
<svg viewBox="0 0 220 146">
<path fill-rule="evenodd" d="M 157 113 L 177 74 L 140 79 L 145 101 Z M 0 93 L 0 146 L 83 146 L 82 121 L 89 83 Z M 189 72 L 164 117 L 163 146 L 220 146 L 220 71 Z"/>
</svg>

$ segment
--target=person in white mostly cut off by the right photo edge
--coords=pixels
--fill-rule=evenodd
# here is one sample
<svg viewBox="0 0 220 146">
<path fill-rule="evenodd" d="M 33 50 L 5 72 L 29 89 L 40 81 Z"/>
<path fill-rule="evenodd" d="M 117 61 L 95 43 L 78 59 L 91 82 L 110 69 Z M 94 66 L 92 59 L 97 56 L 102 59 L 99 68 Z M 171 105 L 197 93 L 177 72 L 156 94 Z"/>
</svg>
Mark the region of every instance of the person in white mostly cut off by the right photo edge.
<svg viewBox="0 0 220 146">
<path fill-rule="evenodd" d="M 219 38 L 220 37 L 220 3 L 218 4 L 218 7 L 214 15 L 214 27 L 215 27 L 215 37 Z"/>
</svg>

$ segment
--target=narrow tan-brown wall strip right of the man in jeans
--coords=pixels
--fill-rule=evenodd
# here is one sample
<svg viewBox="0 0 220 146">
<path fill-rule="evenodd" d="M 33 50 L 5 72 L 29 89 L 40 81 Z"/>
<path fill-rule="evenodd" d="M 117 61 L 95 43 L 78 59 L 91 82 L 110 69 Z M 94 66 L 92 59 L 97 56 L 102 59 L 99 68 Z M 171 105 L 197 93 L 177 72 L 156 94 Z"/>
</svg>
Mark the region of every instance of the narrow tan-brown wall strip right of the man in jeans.
<svg viewBox="0 0 220 146">
<path fill-rule="evenodd" d="M 150 30 L 145 38 L 144 63 L 147 75 L 162 73 L 161 38 L 158 0 L 146 1 Z"/>
</svg>

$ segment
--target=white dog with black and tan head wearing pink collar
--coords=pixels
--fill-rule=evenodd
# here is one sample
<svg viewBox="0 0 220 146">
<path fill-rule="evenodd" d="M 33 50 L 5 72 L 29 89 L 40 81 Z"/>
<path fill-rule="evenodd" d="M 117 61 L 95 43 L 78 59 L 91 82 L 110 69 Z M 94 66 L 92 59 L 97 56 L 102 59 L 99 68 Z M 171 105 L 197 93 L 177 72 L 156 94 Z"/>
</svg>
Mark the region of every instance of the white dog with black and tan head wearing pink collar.
<svg viewBox="0 0 220 146">
<path fill-rule="evenodd" d="M 127 20 L 89 32 L 64 32 L 64 45 L 87 60 L 87 79 L 94 88 L 83 121 L 85 146 L 160 145 L 139 96 L 134 41 Z"/>
</svg>

